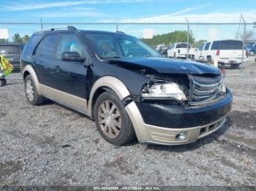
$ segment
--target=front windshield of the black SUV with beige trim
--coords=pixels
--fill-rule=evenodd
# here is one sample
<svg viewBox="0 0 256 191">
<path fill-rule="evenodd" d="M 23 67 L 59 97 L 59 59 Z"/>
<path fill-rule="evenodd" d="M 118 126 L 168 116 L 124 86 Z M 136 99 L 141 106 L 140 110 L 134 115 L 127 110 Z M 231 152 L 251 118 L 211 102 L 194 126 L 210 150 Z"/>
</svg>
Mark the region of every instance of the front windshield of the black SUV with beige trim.
<svg viewBox="0 0 256 191">
<path fill-rule="evenodd" d="M 139 39 L 123 34 L 87 34 L 89 44 L 99 58 L 161 57 Z"/>
</svg>

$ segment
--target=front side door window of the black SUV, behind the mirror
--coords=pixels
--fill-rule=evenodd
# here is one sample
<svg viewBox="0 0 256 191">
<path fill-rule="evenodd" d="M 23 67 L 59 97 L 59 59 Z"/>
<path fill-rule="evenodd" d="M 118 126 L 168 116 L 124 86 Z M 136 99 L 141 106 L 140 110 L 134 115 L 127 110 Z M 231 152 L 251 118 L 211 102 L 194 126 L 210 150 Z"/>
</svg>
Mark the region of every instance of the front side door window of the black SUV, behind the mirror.
<svg viewBox="0 0 256 191">
<path fill-rule="evenodd" d="M 63 34 L 56 55 L 61 59 L 63 52 L 78 52 L 80 57 L 86 58 L 86 49 L 77 36 L 73 34 Z"/>
</svg>

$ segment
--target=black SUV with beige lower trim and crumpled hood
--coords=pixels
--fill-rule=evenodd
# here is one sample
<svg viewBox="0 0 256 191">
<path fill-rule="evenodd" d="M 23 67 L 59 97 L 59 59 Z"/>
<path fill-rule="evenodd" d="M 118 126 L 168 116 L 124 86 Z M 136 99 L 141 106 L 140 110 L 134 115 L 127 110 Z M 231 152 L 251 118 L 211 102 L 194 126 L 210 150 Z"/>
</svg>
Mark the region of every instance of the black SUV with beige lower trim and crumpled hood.
<svg viewBox="0 0 256 191">
<path fill-rule="evenodd" d="M 69 26 L 38 31 L 24 47 L 26 98 L 95 120 L 111 144 L 187 144 L 220 128 L 232 105 L 219 69 L 162 58 L 121 32 Z"/>
</svg>

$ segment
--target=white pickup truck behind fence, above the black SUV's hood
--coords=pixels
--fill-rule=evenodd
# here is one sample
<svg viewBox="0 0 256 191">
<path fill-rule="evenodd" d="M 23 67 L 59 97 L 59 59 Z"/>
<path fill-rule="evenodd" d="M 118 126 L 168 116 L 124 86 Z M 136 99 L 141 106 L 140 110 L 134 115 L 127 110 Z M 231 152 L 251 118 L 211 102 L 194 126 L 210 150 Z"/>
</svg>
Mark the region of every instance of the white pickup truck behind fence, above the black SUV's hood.
<svg viewBox="0 0 256 191">
<path fill-rule="evenodd" d="M 192 58 L 191 44 L 189 44 L 189 58 Z M 187 58 L 187 42 L 178 42 L 170 45 L 169 50 L 167 50 L 167 57 L 169 58 Z"/>
</svg>

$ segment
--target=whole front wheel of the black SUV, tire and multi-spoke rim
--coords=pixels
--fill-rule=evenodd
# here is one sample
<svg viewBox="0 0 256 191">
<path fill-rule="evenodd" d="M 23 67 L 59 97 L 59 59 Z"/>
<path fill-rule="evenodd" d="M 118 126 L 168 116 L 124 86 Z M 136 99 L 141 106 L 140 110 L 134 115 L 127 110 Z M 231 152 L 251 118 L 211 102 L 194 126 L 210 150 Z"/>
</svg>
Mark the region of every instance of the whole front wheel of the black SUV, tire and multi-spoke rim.
<svg viewBox="0 0 256 191">
<path fill-rule="evenodd" d="M 123 145 L 135 139 L 132 122 L 114 93 L 99 95 L 94 106 L 94 120 L 100 135 L 110 144 Z"/>
</svg>

